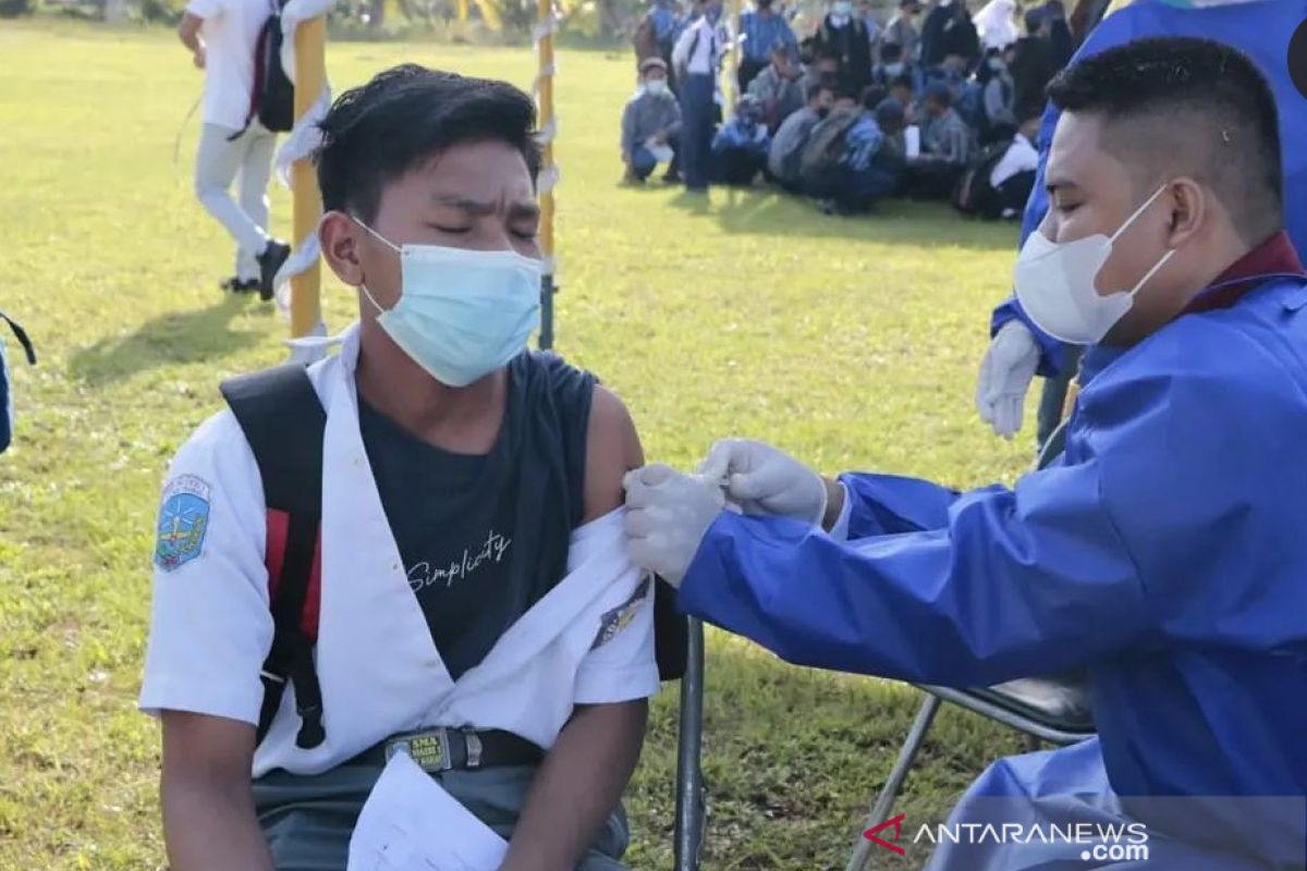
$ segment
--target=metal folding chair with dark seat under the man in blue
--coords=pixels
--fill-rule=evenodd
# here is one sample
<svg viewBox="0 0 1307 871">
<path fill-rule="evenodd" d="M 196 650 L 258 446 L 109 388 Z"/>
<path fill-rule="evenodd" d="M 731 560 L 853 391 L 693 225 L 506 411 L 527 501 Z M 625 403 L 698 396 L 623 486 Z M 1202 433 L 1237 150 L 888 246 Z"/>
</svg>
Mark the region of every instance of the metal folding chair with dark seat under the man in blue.
<svg viewBox="0 0 1307 871">
<path fill-rule="evenodd" d="M 1044 443 L 1035 467 L 1043 469 L 1051 464 L 1063 452 L 1065 444 L 1067 423 L 1063 422 Z M 861 832 L 884 823 L 889 816 L 942 703 L 948 701 L 966 708 L 982 717 L 1017 729 L 1036 742 L 1048 742 L 1059 747 L 1074 744 L 1094 735 L 1089 684 L 1084 673 L 1052 678 L 1023 678 L 980 689 L 929 686 L 919 688 L 925 691 L 925 701 L 921 704 L 916 720 L 912 721 L 912 727 L 899 750 L 894 768 L 890 769 L 890 774 L 885 780 L 885 786 L 876 797 L 876 803 L 872 804 L 865 825 L 859 832 L 857 844 L 846 871 L 863 871 L 867 867 L 873 844 L 864 838 Z"/>
</svg>

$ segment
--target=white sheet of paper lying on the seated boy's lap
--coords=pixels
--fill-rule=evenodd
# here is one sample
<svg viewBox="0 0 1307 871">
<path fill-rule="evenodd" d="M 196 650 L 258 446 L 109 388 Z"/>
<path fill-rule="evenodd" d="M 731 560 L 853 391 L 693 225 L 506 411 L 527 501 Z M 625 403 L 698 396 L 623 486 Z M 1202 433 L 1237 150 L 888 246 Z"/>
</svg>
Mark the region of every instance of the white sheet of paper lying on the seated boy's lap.
<svg viewBox="0 0 1307 871">
<path fill-rule="evenodd" d="M 497 871 L 508 842 L 396 753 L 358 815 L 346 871 Z"/>
</svg>

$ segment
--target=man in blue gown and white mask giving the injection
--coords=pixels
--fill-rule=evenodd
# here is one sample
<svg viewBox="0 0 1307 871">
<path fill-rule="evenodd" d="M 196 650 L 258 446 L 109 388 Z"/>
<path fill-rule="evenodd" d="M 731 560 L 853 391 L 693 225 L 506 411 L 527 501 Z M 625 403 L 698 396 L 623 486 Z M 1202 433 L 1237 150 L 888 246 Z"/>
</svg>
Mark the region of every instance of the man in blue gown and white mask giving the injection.
<svg viewBox="0 0 1307 871">
<path fill-rule="evenodd" d="M 1065 452 L 957 492 L 728 440 L 698 474 L 627 475 L 631 555 L 795 663 L 950 687 L 1087 670 L 1098 736 L 993 764 L 953 819 L 1137 823 L 1146 863 L 991 838 L 941 844 L 932 871 L 1303 867 L 1307 276 L 1274 97 L 1243 54 L 1167 38 L 1050 98 L 1017 295 L 1114 355 Z"/>
</svg>

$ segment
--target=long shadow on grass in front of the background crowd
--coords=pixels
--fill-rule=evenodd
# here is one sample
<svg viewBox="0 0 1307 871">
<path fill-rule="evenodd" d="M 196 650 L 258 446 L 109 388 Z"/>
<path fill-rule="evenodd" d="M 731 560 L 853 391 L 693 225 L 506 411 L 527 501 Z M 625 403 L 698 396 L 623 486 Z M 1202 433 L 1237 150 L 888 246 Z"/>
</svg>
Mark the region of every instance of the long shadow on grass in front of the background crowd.
<svg viewBox="0 0 1307 871">
<path fill-rule="evenodd" d="M 697 213 L 708 212 L 687 202 Z M 1016 225 L 966 218 L 944 202 L 885 200 L 867 214 L 822 214 L 812 200 L 758 184 L 718 187 L 712 215 L 727 232 L 776 236 L 846 238 L 918 248 L 955 247 L 1017 252 Z"/>
</svg>

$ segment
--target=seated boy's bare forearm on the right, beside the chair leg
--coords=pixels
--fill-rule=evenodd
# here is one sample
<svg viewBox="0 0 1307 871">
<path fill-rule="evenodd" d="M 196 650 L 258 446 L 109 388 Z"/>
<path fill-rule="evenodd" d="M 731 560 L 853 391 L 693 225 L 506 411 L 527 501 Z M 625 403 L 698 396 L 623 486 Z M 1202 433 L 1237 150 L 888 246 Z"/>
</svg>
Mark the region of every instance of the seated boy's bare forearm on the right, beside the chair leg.
<svg viewBox="0 0 1307 871">
<path fill-rule="evenodd" d="M 501 871 L 570 871 L 635 770 L 648 703 L 580 708 L 540 767 Z"/>
</svg>

